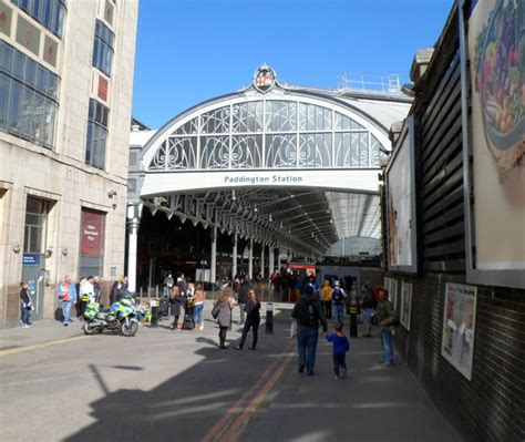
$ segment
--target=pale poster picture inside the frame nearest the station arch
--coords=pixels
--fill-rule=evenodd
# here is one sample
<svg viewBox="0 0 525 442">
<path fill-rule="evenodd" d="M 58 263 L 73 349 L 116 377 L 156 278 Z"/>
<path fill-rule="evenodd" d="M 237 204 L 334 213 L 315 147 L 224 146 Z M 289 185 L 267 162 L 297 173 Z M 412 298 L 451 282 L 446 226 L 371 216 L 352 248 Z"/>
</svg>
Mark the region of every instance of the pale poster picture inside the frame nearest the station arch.
<svg viewBox="0 0 525 442">
<path fill-rule="evenodd" d="M 412 265 L 410 136 L 388 171 L 389 258 L 391 266 Z"/>
</svg>

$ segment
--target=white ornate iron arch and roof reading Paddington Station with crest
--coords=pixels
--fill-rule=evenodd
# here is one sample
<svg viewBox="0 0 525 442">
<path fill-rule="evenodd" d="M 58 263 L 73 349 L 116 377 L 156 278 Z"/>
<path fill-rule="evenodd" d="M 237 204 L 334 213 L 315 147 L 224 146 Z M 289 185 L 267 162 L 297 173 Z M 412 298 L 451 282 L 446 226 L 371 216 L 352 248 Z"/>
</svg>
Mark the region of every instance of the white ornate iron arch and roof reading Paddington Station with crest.
<svg viewBox="0 0 525 442">
<path fill-rule="evenodd" d="M 233 238 L 234 274 L 238 237 L 250 253 L 261 245 L 262 263 L 268 247 L 269 271 L 276 248 L 313 260 L 342 238 L 379 241 L 378 172 L 388 127 L 409 103 L 375 95 L 280 84 L 262 65 L 249 88 L 183 112 L 143 145 L 132 141 L 141 162 L 130 173 L 131 288 L 144 207 L 210 228 L 212 280 L 217 233 Z"/>
</svg>

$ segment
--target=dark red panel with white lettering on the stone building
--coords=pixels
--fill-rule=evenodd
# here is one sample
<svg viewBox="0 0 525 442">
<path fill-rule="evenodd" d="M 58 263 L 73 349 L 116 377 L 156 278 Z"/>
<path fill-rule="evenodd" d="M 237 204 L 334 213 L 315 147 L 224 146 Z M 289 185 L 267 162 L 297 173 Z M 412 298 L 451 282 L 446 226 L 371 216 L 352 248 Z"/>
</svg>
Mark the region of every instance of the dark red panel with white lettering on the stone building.
<svg viewBox="0 0 525 442">
<path fill-rule="evenodd" d="M 105 214 L 82 207 L 79 275 L 103 274 Z"/>
</svg>

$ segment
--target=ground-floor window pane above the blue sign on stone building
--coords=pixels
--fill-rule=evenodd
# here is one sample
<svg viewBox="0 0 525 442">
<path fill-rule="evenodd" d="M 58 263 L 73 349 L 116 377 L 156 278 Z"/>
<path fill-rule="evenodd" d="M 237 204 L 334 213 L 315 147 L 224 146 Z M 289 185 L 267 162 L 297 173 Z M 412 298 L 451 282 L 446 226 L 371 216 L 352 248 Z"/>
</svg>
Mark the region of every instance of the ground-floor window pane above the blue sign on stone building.
<svg viewBox="0 0 525 442">
<path fill-rule="evenodd" d="M 28 197 L 25 206 L 24 254 L 43 254 L 48 226 L 48 202 Z"/>
</svg>

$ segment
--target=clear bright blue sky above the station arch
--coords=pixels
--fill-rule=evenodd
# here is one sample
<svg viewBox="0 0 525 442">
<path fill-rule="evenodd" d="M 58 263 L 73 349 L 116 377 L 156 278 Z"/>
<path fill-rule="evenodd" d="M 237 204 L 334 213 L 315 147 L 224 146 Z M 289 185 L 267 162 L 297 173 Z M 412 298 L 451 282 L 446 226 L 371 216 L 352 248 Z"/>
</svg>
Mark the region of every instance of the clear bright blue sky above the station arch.
<svg viewBox="0 0 525 442">
<path fill-rule="evenodd" d="M 453 0 L 141 0 L 133 116 L 158 129 L 203 101 L 277 81 L 336 89 L 341 73 L 410 78 Z"/>
</svg>

